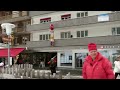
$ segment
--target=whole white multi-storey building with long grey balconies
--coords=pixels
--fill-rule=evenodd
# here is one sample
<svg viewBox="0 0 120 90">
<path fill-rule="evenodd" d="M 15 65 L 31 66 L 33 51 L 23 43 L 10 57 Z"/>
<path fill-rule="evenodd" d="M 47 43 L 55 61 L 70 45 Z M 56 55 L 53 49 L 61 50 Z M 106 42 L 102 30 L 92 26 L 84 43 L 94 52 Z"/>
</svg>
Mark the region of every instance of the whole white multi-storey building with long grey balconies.
<svg viewBox="0 0 120 90">
<path fill-rule="evenodd" d="M 35 52 L 56 52 L 57 66 L 82 67 L 88 54 L 87 44 L 98 44 L 98 50 L 113 63 L 119 53 L 120 12 L 113 11 L 30 11 L 31 33 L 27 47 Z M 50 45 L 49 25 L 54 25 L 55 45 Z M 82 59 L 82 60 L 80 60 Z M 82 61 L 82 62 L 80 62 Z"/>
</svg>

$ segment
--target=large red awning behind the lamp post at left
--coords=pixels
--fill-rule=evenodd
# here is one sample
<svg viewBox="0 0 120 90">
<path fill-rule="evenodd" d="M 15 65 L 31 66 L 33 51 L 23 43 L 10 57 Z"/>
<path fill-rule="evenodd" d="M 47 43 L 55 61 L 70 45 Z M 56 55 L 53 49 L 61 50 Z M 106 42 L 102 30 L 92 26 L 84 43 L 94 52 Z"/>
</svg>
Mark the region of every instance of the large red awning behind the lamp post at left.
<svg viewBox="0 0 120 90">
<path fill-rule="evenodd" d="M 10 48 L 10 57 L 15 57 L 25 48 Z M 8 57 L 8 48 L 0 49 L 0 57 Z"/>
</svg>

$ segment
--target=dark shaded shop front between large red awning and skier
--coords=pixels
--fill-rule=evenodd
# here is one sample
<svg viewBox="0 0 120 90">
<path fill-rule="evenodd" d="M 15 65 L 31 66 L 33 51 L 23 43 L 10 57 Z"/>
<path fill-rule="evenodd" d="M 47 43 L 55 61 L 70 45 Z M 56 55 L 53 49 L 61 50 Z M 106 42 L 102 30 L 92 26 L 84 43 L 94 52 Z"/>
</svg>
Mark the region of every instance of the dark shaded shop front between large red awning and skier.
<svg viewBox="0 0 120 90">
<path fill-rule="evenodd" d="M 57 55 L 56 52 L 33 52 L 22 54 L 24 58 L 31 62 L 34 68 L 49 67 L 48 62 Z"/>
</svg>

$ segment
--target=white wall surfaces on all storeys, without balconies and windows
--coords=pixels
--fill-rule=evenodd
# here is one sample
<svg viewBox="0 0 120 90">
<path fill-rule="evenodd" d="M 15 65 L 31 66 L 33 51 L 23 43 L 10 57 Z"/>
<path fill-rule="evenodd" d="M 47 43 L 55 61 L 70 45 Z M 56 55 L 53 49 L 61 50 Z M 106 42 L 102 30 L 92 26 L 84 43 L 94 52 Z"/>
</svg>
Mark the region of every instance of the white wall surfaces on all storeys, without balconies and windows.
<svg viewBox="0 0 120 90">
<path fill-rule="evenodd" d="M 53 21 L 59 21 L 61 20 L 61 15 L 63 14 L 71 14 L 71 19 L 77 18 L 76 13 L 80 11 L 61 11 L 61 12 L 54 12 L 39 16 L 33 16 L 32 17 L 32 23 L 31 24 L 40 24 L 41 18 L 47 18 L 51 17 L 52 22 Z M 88 16 L 93 15 L 99 15 L 99 14 L 105 14 L 110 13 L 111 11 L 89 11 Z M 88 25 L 82 25 L 82 26 L 71 26 L 71 27 L 64 27 L 64 28 L 55 28 L 54 31 L 54 38 L 60 39 L 60 32 L 67 32 L 71 31 L 71 34 L 73 35 L 73 38 L 77 38 L 76 31 L 82 31 L 82 30 L 88 30 L 88 37 L 96 37 L 96 36 L 107 36 L 112 35 L 111 29 L 112 27 L 118 27 L 120 26 L 119 22 L 106 22 L 106 23 L 97 23 L 97 24 L 88 24 Z M 39 35 L 40 34 L 49 34 L 49 29 L 47 30 L 41 30 L 41 31 L 32 31 L 33 35 L 33 41 L 39 41 Z M 72 52 L 72 66 L 61 66 L 60 63 L 60 54 L 68 52 L 67 50 L 57 51 L 57 67 L 68 67 L 68 68 L 75 68 L 75 53 L 87 53 L 87 49 L 72 49 L 70 52 Z M 110 54 L 112 55 L 112 53 Z M 112 56 L 111 56 L 112 58 Z M 111 62 L 113 63 L 113 60 L 111 59 Z"/>
</svg>

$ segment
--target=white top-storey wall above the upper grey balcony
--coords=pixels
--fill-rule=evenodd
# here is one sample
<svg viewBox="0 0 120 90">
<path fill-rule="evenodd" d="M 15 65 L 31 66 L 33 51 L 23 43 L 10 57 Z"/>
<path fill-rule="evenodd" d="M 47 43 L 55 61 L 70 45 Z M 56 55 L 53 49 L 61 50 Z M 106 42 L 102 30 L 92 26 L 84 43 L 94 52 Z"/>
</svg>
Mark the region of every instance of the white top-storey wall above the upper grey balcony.
<svg viewBox="0 0 120 90">
<path fill-rule="evenodd" d="M 71 19 L 77 18 L 77 13 L 84 12 L 84 11 L 60 11 L 60 12 L 53 12 L 47 13 L 43 15 L 36 15 L 33 16 L 31 19 L 31 25 L 33 24 L 40 24 L 40 19 L 51 17 L 51 22 L 60 21 L 61 15 L 71 14 Z M 111 11 L 88 11 L 88 16 L 94 16 L 99 14 L 111 13 Z"/>
</svg>

